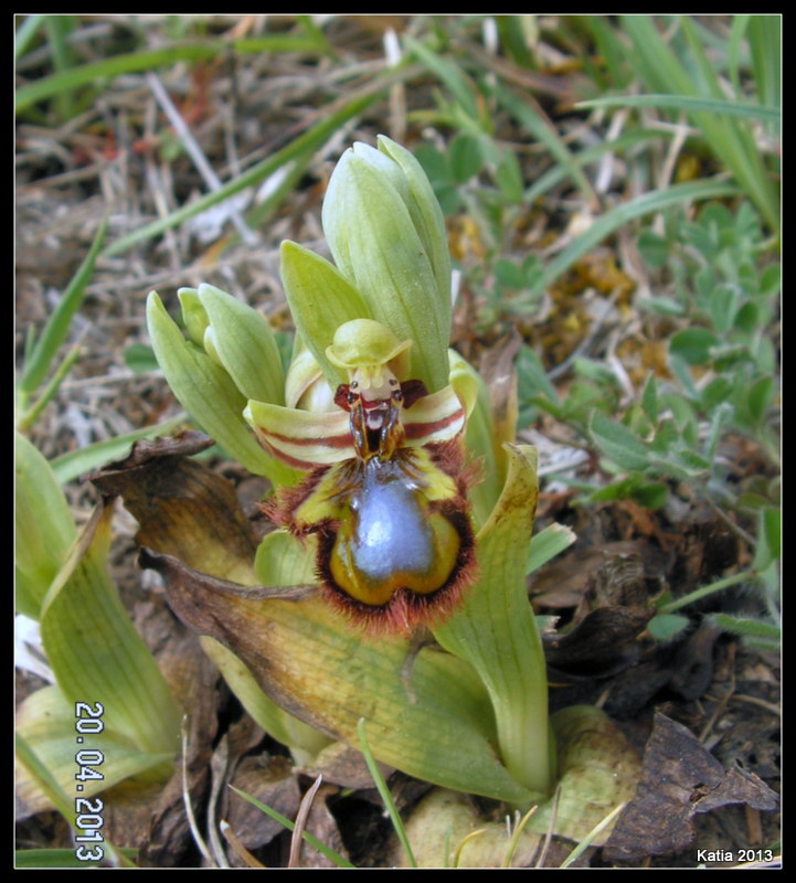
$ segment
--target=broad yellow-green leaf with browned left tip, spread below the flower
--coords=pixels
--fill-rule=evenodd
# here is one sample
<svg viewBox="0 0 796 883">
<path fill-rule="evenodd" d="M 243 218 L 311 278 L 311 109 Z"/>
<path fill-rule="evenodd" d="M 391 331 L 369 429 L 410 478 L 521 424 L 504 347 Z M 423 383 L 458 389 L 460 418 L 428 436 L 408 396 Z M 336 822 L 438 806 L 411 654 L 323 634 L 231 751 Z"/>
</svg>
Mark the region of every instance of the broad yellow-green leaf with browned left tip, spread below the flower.
<svg viewBox="0 0 796 883">
<path fill-rule="evenodd" d="M 404 684 L 406 641 L 353 629 L 320 597 L 269 598 L 167 555 L 144 563 L 164 577 L 185 625 L 226 646 L 280 708 L 355 745 L 361 717 L 382 763 L 445 787 L 528 802 L 532 794 L 496 756 L 487 698 L 461 660 L 423 650 Z"/>
</svg>

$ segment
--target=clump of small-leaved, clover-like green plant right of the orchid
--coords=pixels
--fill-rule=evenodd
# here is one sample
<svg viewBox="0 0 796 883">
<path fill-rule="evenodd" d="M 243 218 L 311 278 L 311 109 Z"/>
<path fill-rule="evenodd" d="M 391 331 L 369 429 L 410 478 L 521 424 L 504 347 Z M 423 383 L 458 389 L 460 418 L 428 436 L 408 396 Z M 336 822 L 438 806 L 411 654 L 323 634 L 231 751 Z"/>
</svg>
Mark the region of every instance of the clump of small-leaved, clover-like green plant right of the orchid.
<svg viewBox="0 0 796 883">
<path fill-rule="evenodd" d="M 752 642 L 771 646 L 778 635 L 778 389 L 775 323 L 778 320 L 779 264 L 767 255 L 757 214 L 749 203 L 735 213 L 710 203 L 687 222 L 669 216 L 664 235 L 643 231 L 638 248 L 657 274 L 655 295 L 639 308 L 668 337 L 668 376 L 650 374 L 636 400 L 620 405 L 622 390 L 608 366 L 575 360 L 574 382 L 560 396 L 538 358 L 520 360 L 524 413 L 553 415 L 575 429 L 602 456 L 607 481 L 573 481 L 582 503 L 630 498 L 649 509 L 665 506 L 672 487 L 688 481 L 719 512 L 754 522 L 749 542 L 755 566 L 694 593 L 660 600 L 661 617 L 650 631 L 671 637 L 688 619 L 673 617 L 704 594 L 729 585 L 756 585 L 765 616 L 715 619 Z M 728 469 L 723 447 L 745 436 L 768 464 L 763 475 L 739 482 Z M 666 617 L 666 618 L 664 618 Z M 745 624 L 745 625 L 744 625 Z"/>
</svg>

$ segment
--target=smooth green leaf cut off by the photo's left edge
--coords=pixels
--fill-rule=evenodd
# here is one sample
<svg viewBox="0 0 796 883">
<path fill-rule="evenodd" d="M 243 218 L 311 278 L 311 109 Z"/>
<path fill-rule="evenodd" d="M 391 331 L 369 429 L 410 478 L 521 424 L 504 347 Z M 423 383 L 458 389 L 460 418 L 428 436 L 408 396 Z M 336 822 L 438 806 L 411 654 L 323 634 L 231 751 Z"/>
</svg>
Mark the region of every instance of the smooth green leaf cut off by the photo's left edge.
<svg viewBox="0 0 796 883">
<path fill-rule="evenodd" d="M 53 470 L 22 435 L 14 435 L 17 610 L 39 619 L 50 584 L 75 539 L 75 525 Z"/>
</svg>

